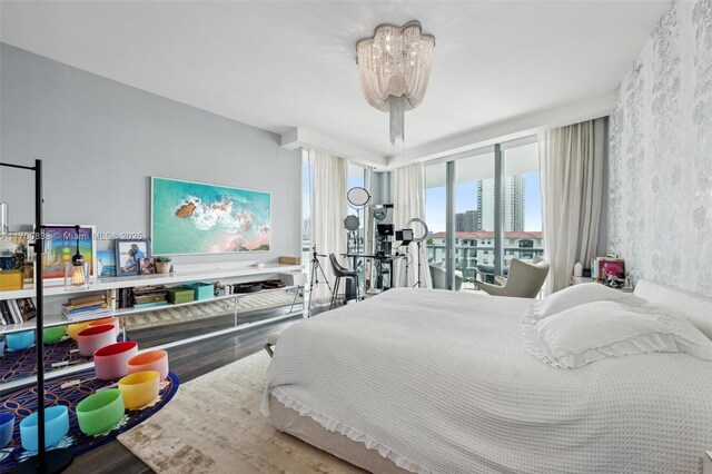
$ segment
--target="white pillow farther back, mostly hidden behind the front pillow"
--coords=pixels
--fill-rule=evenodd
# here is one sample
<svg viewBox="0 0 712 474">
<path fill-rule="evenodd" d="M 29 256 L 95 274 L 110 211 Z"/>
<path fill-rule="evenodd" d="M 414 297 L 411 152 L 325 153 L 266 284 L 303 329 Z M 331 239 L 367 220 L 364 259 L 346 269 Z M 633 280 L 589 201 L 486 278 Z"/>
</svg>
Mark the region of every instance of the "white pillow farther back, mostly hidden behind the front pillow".
<svg viewBox="0 0 712 474">
<path fill-rule="evenodd" d="M 561 292 L 556 292 L 534 303 L 527 310 L 526 316 L 527 319 L 538 320 L 586 303 L 619 300 L 622 298 L 633 298 L 636 303 L 642 302 L 641 298 L 630 293 L 626 294 L 617 289 L 609 288 L 600 283 L 584 283 L 566 287 Z"/>
</svg>

